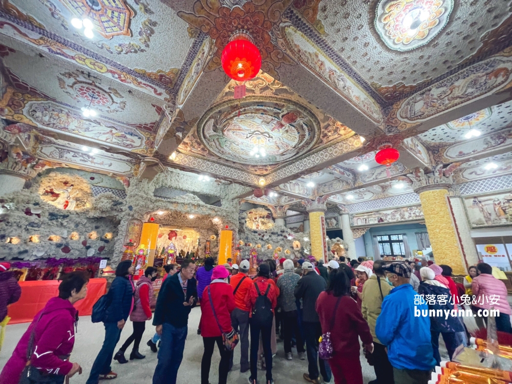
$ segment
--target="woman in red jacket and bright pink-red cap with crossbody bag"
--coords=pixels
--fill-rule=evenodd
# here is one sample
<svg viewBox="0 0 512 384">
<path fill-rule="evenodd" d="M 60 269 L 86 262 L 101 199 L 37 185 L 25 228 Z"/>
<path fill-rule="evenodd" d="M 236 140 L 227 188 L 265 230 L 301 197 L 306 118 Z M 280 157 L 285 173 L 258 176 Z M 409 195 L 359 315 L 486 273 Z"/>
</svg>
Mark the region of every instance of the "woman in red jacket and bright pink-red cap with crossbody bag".
<svg viewBox="0 0 512 384">
<path fill-rule="evenodd" d="M 231 312 L 235 308 L 233 287 L 227 282 L 228 276 L 228 270 L 223 265 L 218 265 L 211 273 L 211 283 L 203 291 L 201 336 L 203 336 L 204 353 L 201 360 L 201 384 L 209 383 L 211 355 L 214 353 L 215 343 L 221 353 L 219 384 L 226 384 L 227 381 L 231 352 L 224 348 L 222 332 L 229 333 L 233 329 Z"/>
</svg>

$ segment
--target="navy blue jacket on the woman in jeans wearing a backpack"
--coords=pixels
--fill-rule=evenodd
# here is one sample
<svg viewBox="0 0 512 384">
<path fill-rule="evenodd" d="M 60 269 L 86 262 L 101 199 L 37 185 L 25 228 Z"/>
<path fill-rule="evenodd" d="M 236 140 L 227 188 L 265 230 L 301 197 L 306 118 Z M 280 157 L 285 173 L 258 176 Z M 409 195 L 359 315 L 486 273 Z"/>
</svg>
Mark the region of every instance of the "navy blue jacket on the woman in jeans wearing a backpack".
<svg viewBox="0 0 512 384">
<path fill-rule="evenodd" d="M 109 293 L 110 305 L 105 310 L 105 319 L 103 323 L 117 323 L 130 316 L 132 308 L 133 288 L 132 283 L 126 276 L 117 276 L 110 286 Z"/>
</svg>

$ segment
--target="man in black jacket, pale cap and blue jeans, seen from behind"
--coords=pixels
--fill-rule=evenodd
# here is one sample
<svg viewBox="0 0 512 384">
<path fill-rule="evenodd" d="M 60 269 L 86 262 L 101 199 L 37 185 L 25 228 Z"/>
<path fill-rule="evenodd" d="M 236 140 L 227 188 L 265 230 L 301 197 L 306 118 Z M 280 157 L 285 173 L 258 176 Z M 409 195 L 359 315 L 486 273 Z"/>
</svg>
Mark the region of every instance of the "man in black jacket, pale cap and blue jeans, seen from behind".
<svg viewBox="0 0 512 384">
<path fill-rule="evenodd" d="M 302 264 L 303 276 L 295 287 L 294 294 L 296 298 L 302 298 L 303 307 L 303 326 L 306 336 L 306 352 L 308 355 L 308 373 L 304 374 L 306 381 L 318 384 L 318 365 L 320 373 L 325 382 L 331 381 L 331 369 L 329 364 L 318 358 L 318 338 L 322 335 L 322 326 L 316 313 L 316 299 L 322 291 L 325 291 L 326 281 L 317 274 L 313 264 L 305 261 Z"/>
</svg>

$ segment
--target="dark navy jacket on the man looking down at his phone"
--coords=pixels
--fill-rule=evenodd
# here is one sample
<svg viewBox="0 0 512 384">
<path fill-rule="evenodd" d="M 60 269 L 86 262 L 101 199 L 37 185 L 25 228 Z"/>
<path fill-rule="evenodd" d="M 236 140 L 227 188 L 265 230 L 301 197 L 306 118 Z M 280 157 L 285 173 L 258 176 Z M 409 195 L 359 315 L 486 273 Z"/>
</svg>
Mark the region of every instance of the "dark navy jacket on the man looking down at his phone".
<svg viewBox="0 0 512 384">
<path fill-rule="evenodd" d="M 162 325 L 164 323 L 172 324 L 176 328 L 186 327 L 188 324 L 188 314 L 196 306 L 197 288 L 196 279 L 192 278 L 187 282 L 187 295 L 185 297 L 183 288 L 178 278 L 180 272 L 165 279 L 158 292 L 157 305 L 153 315 L 153 325 Z M 194 297 L 194 304 L 184 306 L 190 297 Z"/>
</svg>

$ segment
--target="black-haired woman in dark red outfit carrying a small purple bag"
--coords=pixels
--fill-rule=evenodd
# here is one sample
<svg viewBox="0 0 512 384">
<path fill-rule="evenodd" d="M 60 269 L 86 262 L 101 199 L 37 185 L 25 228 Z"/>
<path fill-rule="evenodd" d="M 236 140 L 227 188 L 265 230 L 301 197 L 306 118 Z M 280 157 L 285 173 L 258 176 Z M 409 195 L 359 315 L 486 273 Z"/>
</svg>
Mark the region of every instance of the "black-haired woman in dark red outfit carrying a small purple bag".
<svg viewBox="0 0 512 384">
<path fill-rule="evenodd" d="M 334 269 L 329 273 L 327 289 L 316 299 L 322 333 L 331 332 L 334 352 L 328 361 L 335 384 L 362 384 L 359 337 L 367 351 L 373 352 L 370 328 L 349 295 L 349 284 L 345 272 Z"/>
</svg>

